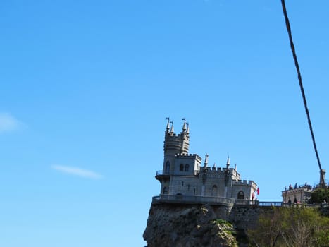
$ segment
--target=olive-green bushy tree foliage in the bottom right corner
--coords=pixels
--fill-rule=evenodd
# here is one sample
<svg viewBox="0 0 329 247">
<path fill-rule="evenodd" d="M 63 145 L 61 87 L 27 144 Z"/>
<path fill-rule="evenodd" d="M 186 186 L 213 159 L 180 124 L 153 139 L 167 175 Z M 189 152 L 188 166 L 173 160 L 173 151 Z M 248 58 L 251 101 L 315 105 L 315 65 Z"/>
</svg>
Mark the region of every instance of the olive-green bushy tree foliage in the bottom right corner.
<svg viewBox="0 0 329 247">
<path fill-rule="evenodd" d="M 329 217 L 313 208 L 273 207 L 259 216 L 248 232 L 250 246 L 329 246 Z"/>
</svg>

